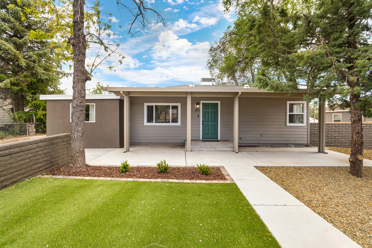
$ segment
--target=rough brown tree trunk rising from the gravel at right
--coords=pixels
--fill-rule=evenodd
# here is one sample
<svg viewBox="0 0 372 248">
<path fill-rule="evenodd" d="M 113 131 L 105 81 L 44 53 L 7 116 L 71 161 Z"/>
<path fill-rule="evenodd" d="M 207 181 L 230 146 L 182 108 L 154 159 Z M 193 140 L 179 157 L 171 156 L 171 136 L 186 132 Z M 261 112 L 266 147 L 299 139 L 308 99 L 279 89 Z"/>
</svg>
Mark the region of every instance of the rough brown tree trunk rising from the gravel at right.
<svg viewBox="0 0 372 248">
<path fill-rule="evenodd" d="M 362 111 L 355 107 L 359 102 L 360 94 L 350 94 L 351 110 L 351 139 L 350 139 L 350 174 L 356 177 L 363 177 L 363 125 Z"/>
</svg>

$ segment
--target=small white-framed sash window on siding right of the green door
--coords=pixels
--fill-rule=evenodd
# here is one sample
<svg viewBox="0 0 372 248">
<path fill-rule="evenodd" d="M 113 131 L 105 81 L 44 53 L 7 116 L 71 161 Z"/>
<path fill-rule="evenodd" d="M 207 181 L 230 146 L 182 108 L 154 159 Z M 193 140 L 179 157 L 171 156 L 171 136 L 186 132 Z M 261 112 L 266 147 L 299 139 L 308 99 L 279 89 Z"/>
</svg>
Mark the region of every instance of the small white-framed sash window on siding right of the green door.
<svg viewBox="0 0 372 248">
<path fill-rule="evenodd" d="M 287 101 L 287 126 L 306 126 L 305 116 L 305 101 Z"/>
</svg>

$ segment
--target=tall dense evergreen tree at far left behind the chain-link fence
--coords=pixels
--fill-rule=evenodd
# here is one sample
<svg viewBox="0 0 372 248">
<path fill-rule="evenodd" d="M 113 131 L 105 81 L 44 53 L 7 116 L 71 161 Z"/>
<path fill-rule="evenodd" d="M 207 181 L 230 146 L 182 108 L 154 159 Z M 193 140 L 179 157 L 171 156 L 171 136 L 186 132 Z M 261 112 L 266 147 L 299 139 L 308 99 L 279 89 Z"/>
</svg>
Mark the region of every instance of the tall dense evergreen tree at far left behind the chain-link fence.
<svg viewBox="0 0 372 248">
<path fill-rule="evenodd" d="M 39 8 L 26 0 L 0 0 L 0 108 L 16 122 L 44 122 L 39 94 L 63 94 L 58 85 L 66 73 L 48 19 L 35 14 Z"/>
</svg>

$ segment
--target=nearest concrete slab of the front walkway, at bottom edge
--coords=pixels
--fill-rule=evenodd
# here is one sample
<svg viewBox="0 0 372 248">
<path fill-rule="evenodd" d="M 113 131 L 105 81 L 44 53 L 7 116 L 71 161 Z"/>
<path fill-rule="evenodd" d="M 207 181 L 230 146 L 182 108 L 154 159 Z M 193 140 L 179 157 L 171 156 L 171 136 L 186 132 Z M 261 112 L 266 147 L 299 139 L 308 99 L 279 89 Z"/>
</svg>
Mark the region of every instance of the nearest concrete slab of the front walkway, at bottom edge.
<svg viewBox="0 0 372 248">
<path fill-rule="evenodd" d="M 282 248 L 361 248 L 307 206 L 255 206 Z"/>
</svg>

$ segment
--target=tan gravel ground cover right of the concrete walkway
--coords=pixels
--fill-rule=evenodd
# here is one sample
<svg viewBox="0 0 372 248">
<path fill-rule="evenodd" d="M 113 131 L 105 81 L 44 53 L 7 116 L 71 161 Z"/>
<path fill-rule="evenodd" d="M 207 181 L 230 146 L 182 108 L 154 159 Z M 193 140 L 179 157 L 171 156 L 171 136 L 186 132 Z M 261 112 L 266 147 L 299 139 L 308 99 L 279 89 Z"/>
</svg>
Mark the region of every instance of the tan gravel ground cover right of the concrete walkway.
<svg viewBox="0 0 372 248">
<path fill-rule="evenodd" d="M 372 248 L 372 168 L 255 167 L 363 248 Z"/>
</svg>

